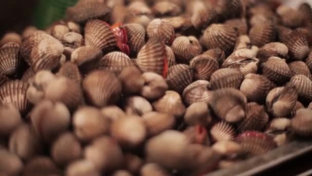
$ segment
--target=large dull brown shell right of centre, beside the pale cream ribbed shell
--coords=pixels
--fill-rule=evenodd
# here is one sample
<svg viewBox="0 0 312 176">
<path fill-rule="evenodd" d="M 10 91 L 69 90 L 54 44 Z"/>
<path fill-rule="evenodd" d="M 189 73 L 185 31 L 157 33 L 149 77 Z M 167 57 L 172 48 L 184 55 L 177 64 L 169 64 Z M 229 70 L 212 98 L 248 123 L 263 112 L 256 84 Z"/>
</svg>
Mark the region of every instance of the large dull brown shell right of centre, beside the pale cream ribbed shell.
<svg viewBox="0 0 312 176">
<path fill-rule="evenodd" d="M 213 92 L 210 107 L 221 119 L 233 123 L 245 117 L 247 99 L 239 90 L 225 88 Z"/>
</svg>

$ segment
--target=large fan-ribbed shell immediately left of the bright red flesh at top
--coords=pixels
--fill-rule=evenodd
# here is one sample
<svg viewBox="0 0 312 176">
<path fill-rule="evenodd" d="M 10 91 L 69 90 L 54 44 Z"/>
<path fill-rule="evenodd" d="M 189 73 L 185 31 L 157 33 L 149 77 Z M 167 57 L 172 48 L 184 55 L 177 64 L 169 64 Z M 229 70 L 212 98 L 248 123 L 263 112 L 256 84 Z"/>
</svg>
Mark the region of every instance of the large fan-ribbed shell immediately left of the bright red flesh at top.
<svg viewBox="0 0 312 176">
<path fill-rule="evenodd" d="M 89 20 L 85 26 L 85 45 L 109 52 L 116 47 L 115 34 L 106 22 Z"/>
</svg>

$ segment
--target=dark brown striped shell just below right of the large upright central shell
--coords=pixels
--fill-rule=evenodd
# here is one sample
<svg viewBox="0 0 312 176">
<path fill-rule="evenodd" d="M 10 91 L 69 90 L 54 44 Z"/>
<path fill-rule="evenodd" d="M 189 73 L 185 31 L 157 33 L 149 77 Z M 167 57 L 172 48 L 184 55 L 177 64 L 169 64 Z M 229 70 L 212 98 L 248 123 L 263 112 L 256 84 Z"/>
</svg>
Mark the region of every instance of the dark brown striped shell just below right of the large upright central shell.
<svg viewBox="0 0 312 176">
<path fill-rule="evenodd" d="M 169 68 L 167 84 L 171 90 L 182 93 L 193 79 L 192 69 L 185 64 L 173 65 Z"/>
</svg>

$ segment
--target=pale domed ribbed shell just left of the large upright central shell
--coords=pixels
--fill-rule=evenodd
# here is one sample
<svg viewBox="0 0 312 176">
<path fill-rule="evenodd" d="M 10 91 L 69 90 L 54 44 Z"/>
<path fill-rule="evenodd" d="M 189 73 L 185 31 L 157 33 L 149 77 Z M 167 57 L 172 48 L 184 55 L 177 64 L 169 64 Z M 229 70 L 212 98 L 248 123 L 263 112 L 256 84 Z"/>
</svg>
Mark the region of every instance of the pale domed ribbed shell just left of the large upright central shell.
<svg viewBox="0 0 312 176">
<path fill-rule="evenodd" d="M 134 61 L 120 51 L 109 52 L 99 61 L 100 69 L 107 69 L 114 73 L 121 73 L 125 67 L 134 65 Z"/>
</svg>

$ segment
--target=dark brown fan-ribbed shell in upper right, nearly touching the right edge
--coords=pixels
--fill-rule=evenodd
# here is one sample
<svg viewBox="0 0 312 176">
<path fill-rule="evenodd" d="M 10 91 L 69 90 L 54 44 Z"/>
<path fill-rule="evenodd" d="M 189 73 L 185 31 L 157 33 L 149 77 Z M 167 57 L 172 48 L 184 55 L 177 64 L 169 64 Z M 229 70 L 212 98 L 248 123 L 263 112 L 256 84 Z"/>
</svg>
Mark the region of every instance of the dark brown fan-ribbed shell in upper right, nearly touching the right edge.
<svg viewBox="0 0 312 176">
<path fill-rule="evenodd" d="M 307 35 L 300 30 L 289 33 L 283 43 L 288 47 L 288 54 L 291 59 L 303 60 L 309 54 Z"/>
</svg>

